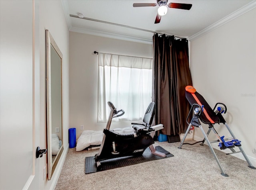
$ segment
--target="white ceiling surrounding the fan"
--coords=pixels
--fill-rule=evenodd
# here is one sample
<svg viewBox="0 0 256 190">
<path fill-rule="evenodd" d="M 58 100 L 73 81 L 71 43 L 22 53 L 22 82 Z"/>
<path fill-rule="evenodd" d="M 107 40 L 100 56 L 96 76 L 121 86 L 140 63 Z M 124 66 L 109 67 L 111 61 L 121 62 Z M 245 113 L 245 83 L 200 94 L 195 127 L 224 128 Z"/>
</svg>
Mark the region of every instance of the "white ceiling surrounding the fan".
<svg viewBox="0 0 256 190">
<path fill-rule="evenodd" d="M 168 0 L 168 4 L 192 4 L 190 10 L 168 8 L 159 24 L 154 24 L 158 6 L 133 7 L 133 3 L 156 3 L 156 0 L 62 0 L 70 31 L 152 42 L 152 32 L 140 31 L 129 27 L 166 33 L 177 37 L 190 38 L 198 33 L 216 27 L 256 7 L 255 0 Z M 78 13 L 84 18 L 110 22 L 106 24 L 92 20 L 74 18 Z M 216 26 L 214 26 L 216 25 Z"/>
</svg>

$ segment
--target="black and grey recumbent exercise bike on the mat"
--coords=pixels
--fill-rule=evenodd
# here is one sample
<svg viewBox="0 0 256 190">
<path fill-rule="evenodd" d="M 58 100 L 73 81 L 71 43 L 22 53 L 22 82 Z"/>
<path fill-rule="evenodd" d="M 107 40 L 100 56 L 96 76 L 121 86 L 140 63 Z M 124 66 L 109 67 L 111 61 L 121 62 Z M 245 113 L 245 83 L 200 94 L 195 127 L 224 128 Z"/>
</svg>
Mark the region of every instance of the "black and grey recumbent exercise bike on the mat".
<svg viewBox="0 0 256 190">
<path fill-rule="evenodd" d="M 151 126 L 155 113 L 155 103 L 151 102 L 146 110 L 143 122 L 132 123 L 132 133 L 120 134 L 118 131 L 110 130 L 112 118 L 124 115 L 124 110 L 116 110 L 115 106 L 108 102 L 110 114 L 106 128 L 103 130 L 104 136 L 100 146 L 99 153 L 95 155 L 97 170 L 101 169 L 101 161 L 108 159 L 141 156 L 147 147 L 153 155 L 166 157 L 164 153 L 156 151 L 153 137 L 156 131 L 163 129 L 162 124 Z"/>
</svg>

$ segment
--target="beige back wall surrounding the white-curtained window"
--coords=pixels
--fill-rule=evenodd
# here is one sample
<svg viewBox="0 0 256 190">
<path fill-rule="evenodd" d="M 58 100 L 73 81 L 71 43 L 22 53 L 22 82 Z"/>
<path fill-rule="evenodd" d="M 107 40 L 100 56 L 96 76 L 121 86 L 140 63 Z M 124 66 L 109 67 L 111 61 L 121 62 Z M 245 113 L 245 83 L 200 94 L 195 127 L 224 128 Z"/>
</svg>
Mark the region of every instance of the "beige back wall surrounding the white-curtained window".
<svg viewBox="0 0 256 190">
<path fill-rule="evenodd" d="M 94 51 L 137 57 L 153 56 L 152 45 L 149 44 L 70 32 L 69 127 L 76 128 L 76 139 L 82 133 L 80 125 L 84 125 L 84 130 L 94 131 L 106 127 L 106 123 L 97 123 L 98 59 Z M 113 123 L 111 128 L 128 127 L 130 123 Z"/>
</svg>

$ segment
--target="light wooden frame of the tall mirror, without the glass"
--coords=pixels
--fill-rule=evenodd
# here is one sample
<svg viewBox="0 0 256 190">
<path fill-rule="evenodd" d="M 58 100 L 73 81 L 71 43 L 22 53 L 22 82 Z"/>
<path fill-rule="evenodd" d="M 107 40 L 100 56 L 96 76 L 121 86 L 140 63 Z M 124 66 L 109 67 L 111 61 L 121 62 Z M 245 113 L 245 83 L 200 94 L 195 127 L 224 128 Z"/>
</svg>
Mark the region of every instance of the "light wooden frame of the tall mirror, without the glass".
<svg viewBox="0 0 256 190">
<path fill-rule="evenodd" d="M 52 162 L 52 105 L 51 105 L 51 45 L 60 56 L 61 60 L 61 130 L 62 130 L 62 145 Z M 63 55 L 54 41 L 52 35 L 46 30 L 46 118 L 47 118 L 47 164 L 48 164 L 48 180 L 51 179 L 53 172 L 58 164 L 63 148 L 63 98 L 62 98 L 62 60 Z"/>
</svg>

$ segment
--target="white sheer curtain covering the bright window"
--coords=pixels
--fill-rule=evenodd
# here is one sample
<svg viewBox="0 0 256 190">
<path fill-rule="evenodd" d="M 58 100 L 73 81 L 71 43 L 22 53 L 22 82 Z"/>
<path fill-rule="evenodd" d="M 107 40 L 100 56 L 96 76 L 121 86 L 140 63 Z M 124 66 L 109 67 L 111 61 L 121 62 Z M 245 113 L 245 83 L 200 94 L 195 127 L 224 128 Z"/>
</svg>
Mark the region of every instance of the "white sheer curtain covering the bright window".
<svg viewBox="0 0 256 190">
<path fill-rule="evenodd" d="M 110 101 L 125 114 L 113 121 L 143 119 L 152 101 L 153 59 L 98 54 L 98 122 L 106 122 Z"/>
</svg>

